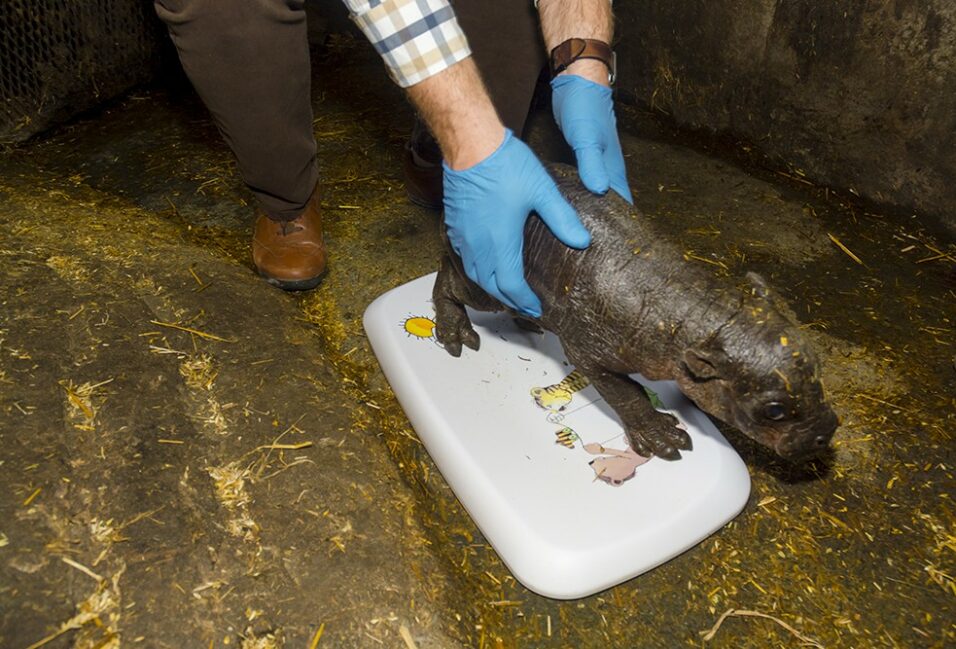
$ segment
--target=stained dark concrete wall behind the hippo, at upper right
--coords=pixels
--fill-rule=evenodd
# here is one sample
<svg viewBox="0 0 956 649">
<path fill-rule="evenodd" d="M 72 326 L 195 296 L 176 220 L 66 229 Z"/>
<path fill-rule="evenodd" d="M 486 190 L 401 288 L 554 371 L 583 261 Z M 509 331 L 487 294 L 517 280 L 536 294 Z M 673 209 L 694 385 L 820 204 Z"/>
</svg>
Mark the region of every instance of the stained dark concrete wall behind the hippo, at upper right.
<svg viewBox="0 0 956 649">
<path fill-rule="evenodd" d="M 615 3 L 622 96 L 956 224 L 954 0 Z"/>
</svg>

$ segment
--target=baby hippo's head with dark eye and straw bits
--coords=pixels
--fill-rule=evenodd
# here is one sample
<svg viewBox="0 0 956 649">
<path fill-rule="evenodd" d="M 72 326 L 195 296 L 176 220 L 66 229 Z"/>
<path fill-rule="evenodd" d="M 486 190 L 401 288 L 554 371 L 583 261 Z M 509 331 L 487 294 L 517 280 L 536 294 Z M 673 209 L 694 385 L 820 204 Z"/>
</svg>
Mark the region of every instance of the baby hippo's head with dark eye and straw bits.
<svg viewBox="0 0 956 649">
<path fill-rule="evenodd" d="M 762 278 L 747 277 L 752 286 L 740 311 L 684 350 L 678 385 L 703 410 L 801 461 L 828 447 L 837 417 L 787 307 Z"/>
</svg>

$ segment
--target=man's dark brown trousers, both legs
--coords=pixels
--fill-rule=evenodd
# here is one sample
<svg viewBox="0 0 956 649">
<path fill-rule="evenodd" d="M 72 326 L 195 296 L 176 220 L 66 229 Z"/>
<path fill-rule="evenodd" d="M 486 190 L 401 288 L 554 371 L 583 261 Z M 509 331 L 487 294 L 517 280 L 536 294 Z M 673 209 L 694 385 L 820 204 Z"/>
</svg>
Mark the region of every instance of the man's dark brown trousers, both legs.
<svg viewBox="0 0 956 649">
<path fill-rule="evenodd" d="M 544 46 L 531 2 L 452 0 L 502 121 L 520 134 Z M 183 69 L 273 218 L 318 179 L 304 0 L 155 0 Z"/>
</svg>

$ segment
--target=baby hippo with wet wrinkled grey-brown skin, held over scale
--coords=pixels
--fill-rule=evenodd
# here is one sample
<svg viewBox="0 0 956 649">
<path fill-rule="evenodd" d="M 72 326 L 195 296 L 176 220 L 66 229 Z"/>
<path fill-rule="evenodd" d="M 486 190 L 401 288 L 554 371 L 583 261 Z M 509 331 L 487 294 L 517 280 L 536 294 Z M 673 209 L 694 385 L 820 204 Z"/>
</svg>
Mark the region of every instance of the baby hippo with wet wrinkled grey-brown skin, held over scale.
<svg viewBox="0 0 956 649">
<path fill-rule="evenodd" d="M 790 460 L 827 448 L 837 418 L 817 361 L 787 307 L 760 276 L 740 285 L 686 261 L 673 241 L 609 192 L 588 192 L 577 172 L 551 174 L 591 232 L 584 251 L 561 244 L 537 217 L 525 228 L 525 273 L 541 298 L 534 322 L 560 338 L 624 423 L 644 456 L 676 460 L 690 450 L 677 420 L 651 406 L 628 378 L 677 381 L 700 408 Z M 436 338 L 452 356 L 477 350 L 463 305 L 506 310 L 464 274 L 448 246 L 435 282 Z"/>
</svg>

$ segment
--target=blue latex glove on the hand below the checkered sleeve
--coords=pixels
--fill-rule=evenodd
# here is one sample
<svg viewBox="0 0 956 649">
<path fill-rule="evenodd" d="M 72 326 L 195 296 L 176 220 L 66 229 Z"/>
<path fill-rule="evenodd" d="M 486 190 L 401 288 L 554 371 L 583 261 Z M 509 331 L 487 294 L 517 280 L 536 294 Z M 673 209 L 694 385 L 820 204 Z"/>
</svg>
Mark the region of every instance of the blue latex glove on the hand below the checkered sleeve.
<svg viewBox="0 0 956 649">
<path fill-rule="evenodd" d="M 528 146 L 505 131 L 478 164 L 444 165 L 445 224 L 465 274 L 506 306 L 537 318 L 541 301 L 524 276 L 524 224 L 535 211 L 558 239 L 586 248 L 591 235 Z"/>
</svg>

